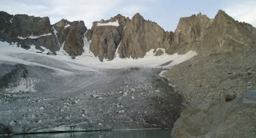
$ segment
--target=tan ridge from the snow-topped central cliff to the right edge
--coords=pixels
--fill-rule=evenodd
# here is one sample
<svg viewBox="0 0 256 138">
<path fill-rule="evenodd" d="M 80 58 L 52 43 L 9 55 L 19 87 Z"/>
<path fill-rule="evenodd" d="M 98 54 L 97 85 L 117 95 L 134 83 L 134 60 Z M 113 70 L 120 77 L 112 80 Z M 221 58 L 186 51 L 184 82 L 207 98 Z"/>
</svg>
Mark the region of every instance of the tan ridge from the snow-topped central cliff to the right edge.
<svg viewBox="0 0 256 138">
<path fill-rule="evenodd" d="M 119 26 L 97 26 L 116 20 Z M 146 52 L 157 48 L 164 48 L 169 54 L 185 54 L 193 50 L 204 56 L 239 52 L 255 47 L 255 30 L 250 24 L 235 21 L 221 10 L 214 19 L 201 13 L 180 18 L 175 32 L 164 31 L 157 23 L 145 20 L 137 13 L 132 20 L 117 15 L 110 20 L 94 22 L 87 37 L 92 40 L 90 50 L 103 61 L 104 58 L 112 60 L 116 54 L 120 58 L 143 58 Z"/>
</svg>

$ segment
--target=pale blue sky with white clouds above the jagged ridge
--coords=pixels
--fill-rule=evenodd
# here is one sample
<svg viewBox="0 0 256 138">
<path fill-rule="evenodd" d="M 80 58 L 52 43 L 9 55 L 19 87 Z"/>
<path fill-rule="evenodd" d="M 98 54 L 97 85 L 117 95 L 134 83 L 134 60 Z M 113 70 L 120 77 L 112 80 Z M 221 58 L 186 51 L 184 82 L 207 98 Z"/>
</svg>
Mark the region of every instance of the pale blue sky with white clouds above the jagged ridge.
<svg viewBox="0 0 256 138">
<path fill-rule="evenodd" d="M 12 15 L 48 16 L 51 24 L 62 18 L 83 20 L 88 29 L 94 21 L 108 20 L 117 14 L 131 19 L 140 13 L 165 31 L 175 31 L 180 17 L 201 12 L 214 18 L 220 9 L 235 20 L 256 27 L 256 0 L 0 0 L 0 3 L 0 11 Z"/>
</svg>

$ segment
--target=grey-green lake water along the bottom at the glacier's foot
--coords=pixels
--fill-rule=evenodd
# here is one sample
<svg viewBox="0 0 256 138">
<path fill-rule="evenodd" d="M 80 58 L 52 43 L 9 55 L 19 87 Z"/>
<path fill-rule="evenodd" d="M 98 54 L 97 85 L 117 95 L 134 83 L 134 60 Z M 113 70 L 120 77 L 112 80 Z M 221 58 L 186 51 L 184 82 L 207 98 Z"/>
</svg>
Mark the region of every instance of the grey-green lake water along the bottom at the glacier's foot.
<svg viewBox="0 0 256 138">
<path fill-rule="evenodd" d="M 142 129 L 142 130 L 113 130 L 113 131 L 86 131 L 86 132 L 68 132 L 68 133 L 38 133 L 22 134 L 2 137 L 12 138 L 170 138 L 171 129 Z M 2 138 L 1 137 L 1 138 Z"/>
</svg>

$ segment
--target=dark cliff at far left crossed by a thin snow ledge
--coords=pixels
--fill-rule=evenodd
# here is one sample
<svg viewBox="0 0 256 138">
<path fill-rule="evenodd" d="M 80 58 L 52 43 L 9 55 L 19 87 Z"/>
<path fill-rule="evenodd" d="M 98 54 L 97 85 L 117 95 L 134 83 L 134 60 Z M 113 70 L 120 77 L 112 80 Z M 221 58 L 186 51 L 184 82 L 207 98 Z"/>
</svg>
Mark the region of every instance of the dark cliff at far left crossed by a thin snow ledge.
<svg viewBox="0 0 256 138">
<path fill-rule="evenodd" d="M 48 17 L 13 16 L 1 11 L 0 18 L 0 39 L 2 41 L 17 42 L 18 46 L 25 49 L 34 45 L 36 49 L 44 51 L 42 47 L 45 47 L 52 54 L 56 54 L 55 51 L 60 50 Z"/>
</svg>

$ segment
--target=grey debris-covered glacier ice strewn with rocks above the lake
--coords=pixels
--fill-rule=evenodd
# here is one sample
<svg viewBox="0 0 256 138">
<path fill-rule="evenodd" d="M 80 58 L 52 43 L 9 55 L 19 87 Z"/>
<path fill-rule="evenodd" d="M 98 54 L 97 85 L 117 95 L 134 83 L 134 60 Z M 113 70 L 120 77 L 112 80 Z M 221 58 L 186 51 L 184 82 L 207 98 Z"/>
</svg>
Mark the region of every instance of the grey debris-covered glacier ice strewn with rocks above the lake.
<svg viewBox="0 0 256 138">
<path fill-rule="evenodd" d="M 81 70 L 22 56 L 47 67 L 1 62 L 1 133 L 173 127 L 185 108 L 162 69 Z"/>
</svg>

